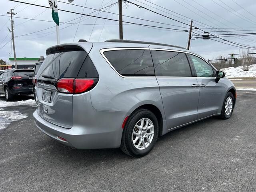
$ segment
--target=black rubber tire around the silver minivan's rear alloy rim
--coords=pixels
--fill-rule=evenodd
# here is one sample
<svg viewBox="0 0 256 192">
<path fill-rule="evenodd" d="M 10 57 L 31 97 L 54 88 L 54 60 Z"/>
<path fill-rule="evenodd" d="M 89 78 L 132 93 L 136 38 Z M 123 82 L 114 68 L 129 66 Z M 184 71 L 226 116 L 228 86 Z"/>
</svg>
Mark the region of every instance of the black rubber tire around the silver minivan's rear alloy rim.
<svg viewBox="0 0 256 192">
<path fill-rule="evenodd" d="M 152 141 L 150 142 L 149 146 L 145 149 L 139 150 L 137 149 L 132 141 L 132 132 L 134 130 L 134 126 L 138 123 L 139 120 L 142 118 L 148 118 L 152 121 L 154 125 L 154 136 Z M 124 127 L 124 131 L 122 134 L 122 142 L 121 142 L 121 150 L 132 157 L 142 157 L 148 154 L 154 145 L 156 144 L 156 140 L 158 138 L 158 120 L 154 113 L 147 109 L 138 109 L 134 113 L 132 113 L 126 122 Z M 145 139 L 145 138 L 144 138 Z"/>
</svg>

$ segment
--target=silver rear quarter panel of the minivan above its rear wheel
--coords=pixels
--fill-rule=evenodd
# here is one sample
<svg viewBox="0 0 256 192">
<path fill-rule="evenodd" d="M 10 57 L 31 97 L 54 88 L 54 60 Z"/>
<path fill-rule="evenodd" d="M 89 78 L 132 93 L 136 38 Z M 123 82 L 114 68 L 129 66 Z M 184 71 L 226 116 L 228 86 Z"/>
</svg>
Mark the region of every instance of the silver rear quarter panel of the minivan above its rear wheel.
<svg viewBox="0 0 256 192">
<path fill-rule="evenodd" d="M 97 47 L 92 48 L 89 56 L 100 77 L 96 87 L 90 91 L 94 109 L 129 114 L 139 106 L 152 104 L 160 110 L 165 119 L 162 98 L 155 77 L 121 77 L 110 67 Z"/>
</svg>

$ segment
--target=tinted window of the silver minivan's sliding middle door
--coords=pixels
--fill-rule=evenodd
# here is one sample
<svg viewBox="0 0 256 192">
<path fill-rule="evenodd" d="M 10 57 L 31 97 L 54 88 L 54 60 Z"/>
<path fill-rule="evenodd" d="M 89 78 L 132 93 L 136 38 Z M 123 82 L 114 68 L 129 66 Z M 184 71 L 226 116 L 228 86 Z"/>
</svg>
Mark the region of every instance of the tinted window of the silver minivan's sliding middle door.
<svg viewBox="0 0 256 192">
<path fill-rule="evenodd" d="M 191 77 L 186 54 L 171 51 L 152 50 L 156 76 Z"/>
</svg>

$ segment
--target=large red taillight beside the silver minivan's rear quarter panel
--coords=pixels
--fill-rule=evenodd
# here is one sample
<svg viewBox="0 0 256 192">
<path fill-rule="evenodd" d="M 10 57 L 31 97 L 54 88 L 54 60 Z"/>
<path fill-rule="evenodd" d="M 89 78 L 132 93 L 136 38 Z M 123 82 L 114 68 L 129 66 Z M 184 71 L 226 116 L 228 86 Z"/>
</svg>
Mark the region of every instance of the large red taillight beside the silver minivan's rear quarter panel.
<svg viewBox="0 0 256 192">
<path fill-rule="evenodd" d="M 78 94 L 91 90 L 98 82 L 98 78 L 94 79 L 73 79 L 64 78 L 58 80 L 56 87 L 59 92 Z"/>
</svg>

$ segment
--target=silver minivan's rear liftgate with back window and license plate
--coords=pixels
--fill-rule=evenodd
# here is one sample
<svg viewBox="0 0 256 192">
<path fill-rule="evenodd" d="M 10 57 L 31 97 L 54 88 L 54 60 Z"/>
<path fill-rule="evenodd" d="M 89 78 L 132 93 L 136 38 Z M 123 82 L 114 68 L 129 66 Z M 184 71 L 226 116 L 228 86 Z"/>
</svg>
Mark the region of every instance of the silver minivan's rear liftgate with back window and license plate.
<svg viewBox="0 0 256 192">
<path fill-rule="evenodd" d="M 89 51 L 92 43 L 88 43 Z M 88 47 L 87 46 L 87 47 Z M 38 114 L 45 120 L 71 128 L 73 125 L 73 94 L 59 92 L 60 79 L 76 78 L 87 52 L 80 46 L 56 46 L 46 51 L 47 57 L 36 74 Z"/>
</svg>

